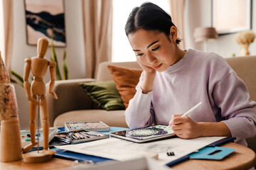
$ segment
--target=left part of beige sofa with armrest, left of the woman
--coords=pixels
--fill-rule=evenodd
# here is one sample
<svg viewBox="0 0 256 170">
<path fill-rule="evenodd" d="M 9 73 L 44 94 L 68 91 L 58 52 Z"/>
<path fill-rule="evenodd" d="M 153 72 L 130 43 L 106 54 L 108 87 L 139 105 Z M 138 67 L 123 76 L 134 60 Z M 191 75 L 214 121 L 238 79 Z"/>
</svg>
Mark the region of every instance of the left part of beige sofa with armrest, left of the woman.
<svg viewBox="0 0 256 170">
<path fill-rule="evenodd" d="M 110 70 L 107 68 L 109 64 L 140 68 L 137 62 L 102 62 L 97 72 L 97 79 L 55 81 L 54 91 L 58 95 L 58 100 L 55 100 L 49 94 L 46 95 L 51 126 L 63 126 L 68 121 L 101 120 L 109 126 L 128 127 L 124 120 L 124 110 L 105 111 L 97 109 L 90 97 L 78 85 L 80 82 L 112 80 Z"/>
</svg>

